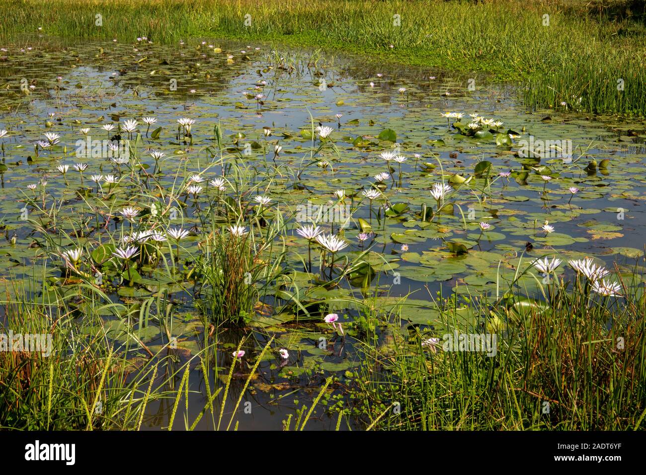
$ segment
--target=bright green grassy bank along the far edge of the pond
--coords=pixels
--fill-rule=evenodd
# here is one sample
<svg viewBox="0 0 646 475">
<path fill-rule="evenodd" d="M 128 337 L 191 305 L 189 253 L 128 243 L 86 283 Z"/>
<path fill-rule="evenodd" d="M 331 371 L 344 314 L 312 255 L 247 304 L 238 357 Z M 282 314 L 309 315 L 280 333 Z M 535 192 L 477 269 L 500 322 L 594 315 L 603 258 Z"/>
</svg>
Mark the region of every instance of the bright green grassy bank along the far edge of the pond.
<svg viewBox="0 0 646 475">
<path fill-rule="evenodd" d="M 280 41 L 523 81 L 530 107 L 646 115 L 646 27 L 637 4 L 54 0 L 43 8 L 2 0 L 0 38 L 41 27 L 48 35 L 120 41 Z"/>
</svg>

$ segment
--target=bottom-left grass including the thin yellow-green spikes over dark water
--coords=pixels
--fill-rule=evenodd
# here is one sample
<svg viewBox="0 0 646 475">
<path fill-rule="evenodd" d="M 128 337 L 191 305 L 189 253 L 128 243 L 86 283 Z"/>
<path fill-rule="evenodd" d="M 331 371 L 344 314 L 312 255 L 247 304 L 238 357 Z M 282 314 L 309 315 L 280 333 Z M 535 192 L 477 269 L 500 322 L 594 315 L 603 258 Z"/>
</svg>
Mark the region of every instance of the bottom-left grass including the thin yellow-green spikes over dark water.
<svg viewBox="0 0 646 475">
<path fill-rule="evenodd" d="M 21 288 L 17 280 L 12 284 L 16 295 L 0 302 L 11 325 L 6 328 L 0 324 L 0 334 L 14 339 L 18 335 L 50 335 L 52 346 L 39 347 L 47 348 L 47 352 L 19 350 L 12 339 L 8 344 L 14 345 L 13 350 L 0 351 L 0 430 L 140 430 L 143 423 L 154 418 L 147 413 L 149 404 L 163 400 L 169 401 L 169 410 L 163 423 L 154 422 L 157 427 L 193 430 L 207 415 L 211 427 L 222 425 L 229 430 L 240 414 L 245 390 L 273 341 L 269 339 L 260 352 L 231 411 L 227 393 L 233 370 L 240 363 L 233 359 L 223 376 L 224 384 L 219 384 L 218 368 L 213 365 L 214 344 L 206 344 L 180 364 L 168 344 L 152 354 L 136 336 L 130 314 L 123 326 L 127 338 L 121 343 L 115 341 L 115 332 L 104 330 L 103 325 L 107 323 L 106 313 L 116 307 L 97 288 L 79 284 L 74 295 L 55 291 L 34 297 L 36 286 Z M 152 306 L 143 306 L 141 312 L 145 313 L 144 321 L 155 319 Z M 143 354 L 144 349 L 149 358 L 133 357 L 133 352 L 140 350 Z M 202 375 L 199 390 L 189 388 L 189 374 L 195 367 Z M 214 387 L 209 377 L 203 376 L 209 374 L 215 375 Z M 189 412 L 189 395 L 202 405 L 196 416 Z M 218 396 L 222 398 L 219 415 L 214 406 Z M 231 416 L 225 416 L 225 407 Z M 176 419 L 183 425 L 176 424 Z"/>
</svg>

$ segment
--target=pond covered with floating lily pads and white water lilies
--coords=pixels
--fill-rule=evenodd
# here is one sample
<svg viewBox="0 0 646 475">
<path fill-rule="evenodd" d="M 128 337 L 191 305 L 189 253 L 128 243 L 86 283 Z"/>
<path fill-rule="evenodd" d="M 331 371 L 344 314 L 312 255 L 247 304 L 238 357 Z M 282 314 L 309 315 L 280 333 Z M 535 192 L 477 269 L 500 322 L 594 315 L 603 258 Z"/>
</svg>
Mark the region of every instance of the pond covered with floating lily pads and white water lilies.
<svg viewBox="0 0 646 475">
<path fill-rule="evenodd" d="M 357 339 L 388 339 L 366 308 L 390 322 L 397 315 L 402 328 L 433 328 L 435 302 L 457 294 L 455 314 L 477 321 L 468 302 L 514 291 L 539 298 L 541 282 L 574 275 L 567 261 L 586 257 L 613 271 L 612 281 L 642 288 L 634 266 L 646 225 L 646 124 L 527 111 L 518 96 L 486 78 L 214 39 L 5 45 L 3 293 L 67 295 L 82 314 L 87 303 L 75 295 L 89 277 L 118 304 L 102 311 L 103 328 L 134 365 L 163 352 L 180 366 L 211 332 L 218 371 L 209 385 L 233 364 L 224 424 L 244 392 L 235 415 L 244 430 L 281 428 L 329 374 L 339 380 L 326 404 L 342 399 L 364 356 Z M 244 226 L 240 236 L 262 249 L 250 265 L 278 259 L 282 269 L 278 279 L 258 278 L 262 292 L 242 328 L 209 320 L 217 305 L 202 302 L 206 284 L 192 266 L 211 226 Z M 333 238 L 308 244 L 296 232 L 304 226 L 338 235 L 341 249 Z M 165 235 L 167 227 L 189 235 Z M 157 231 L 136 235 L 147 229 Z M 139 253 L 124 259 L 124 272 L 112 257 L 121 244 Z M 167 260 L 136 264 L 151 245 Z M 74 248 L 80 258 L 62 255 Z M 532 263 L 544 257 L 563 263 L 543 272 Z M 141 319 L 146 305 L 156 319 Z M 340 324 L 325 322 L 328 314 Z M 192 421 L 208 397 L 197 360 L 189 387 L 199 401 Z M 151 402 L 141 427 L 166 427 L 173 403 Z M 318 413 L 307 429 L 355 424 Z M 204 417 L 196 428 L 214 426 Z"/>
</svg>

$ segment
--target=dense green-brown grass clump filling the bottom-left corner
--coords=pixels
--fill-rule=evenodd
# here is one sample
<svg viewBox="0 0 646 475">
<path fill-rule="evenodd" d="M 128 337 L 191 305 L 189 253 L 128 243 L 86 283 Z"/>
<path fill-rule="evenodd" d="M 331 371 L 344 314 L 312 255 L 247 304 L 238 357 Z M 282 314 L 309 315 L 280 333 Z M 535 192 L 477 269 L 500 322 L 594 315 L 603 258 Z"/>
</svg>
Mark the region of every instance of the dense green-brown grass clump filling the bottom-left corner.
<svg viewBox="0 0 646 475">
<path fill-rule="evenodd" d="M 0 428 L 16 430 L 134 429 L 141 425 L 152 385 L 163 359 L 136 368 L 127 348 L 107 341 L 99 295 L 79 288 L 87 299 L 84 318 L 70 297 L 50 301 L 28 289 L 3 302 L 14 335 L 51 335 L 50 352 L 0 352 Z M 0 332 L 8 334 L 0 326 Z M 15 347 L 14 347 L 15 348 Z M 41 347 L 43 348 L 43 347 Z M 152 390 L 154 397 L 163 391 Z"/>
</svg>

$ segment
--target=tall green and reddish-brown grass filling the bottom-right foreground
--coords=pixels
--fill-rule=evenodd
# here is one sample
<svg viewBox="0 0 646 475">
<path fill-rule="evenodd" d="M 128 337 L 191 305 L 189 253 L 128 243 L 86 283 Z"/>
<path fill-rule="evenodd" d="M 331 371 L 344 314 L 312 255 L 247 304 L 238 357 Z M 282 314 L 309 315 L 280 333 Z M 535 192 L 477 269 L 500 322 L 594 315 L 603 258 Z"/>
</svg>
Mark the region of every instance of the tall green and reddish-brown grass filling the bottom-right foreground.
<svg viewBox="0 0 646 475">
<path fill-rule="evenodd" d="M 399 332 L 395 321 L 391 337 L 364 345 L 370 359 L 353 380 L 351 412 L 388 430 L 643 429 L 643 294 L 624 289 L 625 302 L 610 303 L 585 278 L 550 287 L 548 306 L 513 295 L 438 302 L 443 324 L 424 335 Z M 465 304 L 480 326 L 455 318 Z M 497 354 L 443 351 L 443 333 L 454 329 L 496 333 Z M 430 336 L 439 338 L 434 351 L 422 346 Z"/>
</svg>

